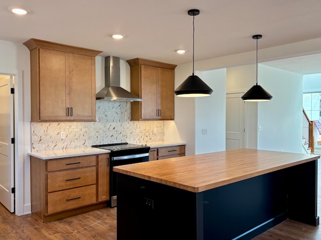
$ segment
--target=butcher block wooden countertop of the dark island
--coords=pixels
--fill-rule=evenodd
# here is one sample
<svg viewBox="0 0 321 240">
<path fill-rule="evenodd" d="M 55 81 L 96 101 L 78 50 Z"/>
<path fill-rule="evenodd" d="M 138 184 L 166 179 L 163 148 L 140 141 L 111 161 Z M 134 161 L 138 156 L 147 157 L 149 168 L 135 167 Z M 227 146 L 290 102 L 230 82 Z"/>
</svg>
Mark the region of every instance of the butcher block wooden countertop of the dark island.
<svg viewBox="0 0 321 240">
<path fill-rule="evenodd" d="M 319 158 L 319 155 L 235 149 L 114 167 L 119 173 L 201 192 Z"/>
</svg>

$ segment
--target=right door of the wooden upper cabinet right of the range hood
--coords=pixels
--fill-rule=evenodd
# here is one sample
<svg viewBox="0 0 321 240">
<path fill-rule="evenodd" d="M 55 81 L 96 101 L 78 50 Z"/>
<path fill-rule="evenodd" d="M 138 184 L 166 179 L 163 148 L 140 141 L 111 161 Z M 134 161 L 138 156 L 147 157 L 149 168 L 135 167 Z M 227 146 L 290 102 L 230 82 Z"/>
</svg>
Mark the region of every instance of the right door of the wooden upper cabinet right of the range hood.
<svg viewBox="0 0 321 240">
<path fill-rule="evenodd" d="M 157 109 L 159 119 L 174 120 L 174 70 L 158 68 Z"/>
</svg>

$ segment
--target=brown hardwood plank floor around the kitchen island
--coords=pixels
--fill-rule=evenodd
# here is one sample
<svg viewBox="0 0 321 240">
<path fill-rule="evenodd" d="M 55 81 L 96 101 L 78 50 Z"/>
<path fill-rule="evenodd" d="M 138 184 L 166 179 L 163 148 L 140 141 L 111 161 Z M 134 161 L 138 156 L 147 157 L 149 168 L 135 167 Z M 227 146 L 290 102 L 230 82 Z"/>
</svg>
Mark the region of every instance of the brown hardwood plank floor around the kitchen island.
<svg viewBox="0 0 321 240">
<path fill-rule="evenodd" d="M 43 223 L 31 214 L 17 216 L 0 204 L 1 240 L 116 240 L 117 208 L 102 208 Z M 321 161 L 318 162 L 318 215 L 321 215 Z M 321 228 L 285 220 L 253 240 L 319 240 Z M 128 239 L 136 240 L 136 239 Z M 151 239 L 152 240 L 152 239 Z"/>
</svg>

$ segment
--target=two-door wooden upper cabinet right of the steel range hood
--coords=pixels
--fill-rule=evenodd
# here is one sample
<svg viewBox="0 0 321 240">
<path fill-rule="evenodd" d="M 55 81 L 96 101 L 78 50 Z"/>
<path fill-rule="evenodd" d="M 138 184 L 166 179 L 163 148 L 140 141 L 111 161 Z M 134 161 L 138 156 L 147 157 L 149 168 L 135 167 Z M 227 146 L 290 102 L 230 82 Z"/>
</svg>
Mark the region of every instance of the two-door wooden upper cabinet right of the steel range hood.
<svg viewBox="0 0 321 240">
<path fill-rule="evenodd" d="M 177 65 L 134 58 L 130 90 L 141 98 L 131 102 L 131 120 L 174 120 L 174 80 Z"/>
</svg>

